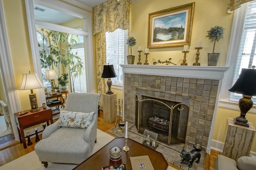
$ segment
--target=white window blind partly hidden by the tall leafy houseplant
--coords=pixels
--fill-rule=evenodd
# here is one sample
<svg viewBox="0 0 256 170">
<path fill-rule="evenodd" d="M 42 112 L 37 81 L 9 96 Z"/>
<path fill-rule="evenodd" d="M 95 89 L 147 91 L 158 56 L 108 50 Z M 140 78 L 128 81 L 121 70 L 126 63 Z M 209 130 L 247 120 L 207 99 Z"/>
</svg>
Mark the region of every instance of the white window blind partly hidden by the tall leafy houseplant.
<svg viewBox="0 0 256 170">
<path fill-rule="evenodd" d="M 83 44 L 83 43 L 82 43 Z M 86 93 L 86 72 L 85 72 L 85 57 L 84 57 L 84 48 L 75 48 L 72 47 L 73 54 L 75 55 L 77 52 L 77 56 L 81 58 L 82 61 L 82 75 L 77 76 L 76 78 L 74 78 L 74 75 L 72 76 L 72 78 L 74 78 L 74 86 L 72 84 L 72 78 L 71 78 L 71 86 L 74 92 L 77 93 Z M 76 62 L 75 62 L 76 63 Z"/>
</svg>

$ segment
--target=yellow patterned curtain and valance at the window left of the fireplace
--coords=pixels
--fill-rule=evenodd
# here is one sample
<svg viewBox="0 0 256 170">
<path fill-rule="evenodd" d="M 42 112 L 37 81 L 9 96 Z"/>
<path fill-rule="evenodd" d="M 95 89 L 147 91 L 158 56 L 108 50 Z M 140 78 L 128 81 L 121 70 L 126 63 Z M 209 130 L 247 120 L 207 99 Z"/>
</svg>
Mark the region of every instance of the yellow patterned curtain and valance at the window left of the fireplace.
<svg viewBox="0 0 256 170">
<path fill-rule="evenodd" d="M 93 35 L 96 39 L 96 69 L 98 94 L 102 96 L 108 90 L 106 81 L 101 78 L 103 66 L 106 64 L 106 37 L 105 33 L 116 29 L 129 29 L 130 0 L 108 0 L 94 6 L 93 12 Z M 102 100 L 99 100 L 102 106 Z"/>
</svg>

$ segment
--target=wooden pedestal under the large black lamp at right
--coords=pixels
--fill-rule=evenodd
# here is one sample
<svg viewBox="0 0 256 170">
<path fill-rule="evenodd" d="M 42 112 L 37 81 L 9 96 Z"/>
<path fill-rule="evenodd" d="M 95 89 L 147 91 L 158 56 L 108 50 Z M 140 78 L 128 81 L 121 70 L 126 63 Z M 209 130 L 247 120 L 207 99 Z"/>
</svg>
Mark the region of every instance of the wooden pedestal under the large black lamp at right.
<svg viewBox="0 0 256 170">
<path fill-rule="evenodd" d="M 255 129 L 252 123 L 250 127 L 235 125 L 232 118 L 228 118 L 228 132 L 224 143 L 223 155 L 234 160 L 241 156 L 249 156 Z"/>
</svg>

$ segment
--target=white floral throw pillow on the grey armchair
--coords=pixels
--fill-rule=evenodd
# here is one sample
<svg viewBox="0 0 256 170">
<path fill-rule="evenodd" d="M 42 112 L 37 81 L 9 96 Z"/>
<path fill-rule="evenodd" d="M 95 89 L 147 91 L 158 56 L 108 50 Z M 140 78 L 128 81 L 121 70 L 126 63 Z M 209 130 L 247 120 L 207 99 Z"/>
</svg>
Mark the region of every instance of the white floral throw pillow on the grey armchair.
<svg viewBox="0 0 256 170">
<path fill-rule="evenodd" d="M 76 111 L 60 111 L 58 125 L 60 127 L 76 127 L 86 129 L 92 122 L 94 111 L 90 113 L 82 113 Z"/>
</svg>

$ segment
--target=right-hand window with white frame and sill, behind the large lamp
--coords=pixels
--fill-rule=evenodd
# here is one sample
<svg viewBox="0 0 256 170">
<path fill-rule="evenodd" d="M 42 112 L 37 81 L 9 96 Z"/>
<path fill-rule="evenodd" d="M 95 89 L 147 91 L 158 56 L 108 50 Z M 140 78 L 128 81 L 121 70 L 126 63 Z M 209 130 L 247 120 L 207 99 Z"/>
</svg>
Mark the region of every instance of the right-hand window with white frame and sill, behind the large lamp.
<svg viewBox="0 0 256 170">
<path fill-rule="evenodd" d="M 234 11 L 232 30 L 230 34 L 226 66 L 218 107 L 239 111 L 238 100 L 241 94 L 230 93 L 228 89 L 236 82 L 242 68 L 251 68 L 256 65 L 256 1 L 242 4 Z M 255 41 L 254 41 L 255 39 Z M 256 113 L 256 100 L 252 98 L 254 106 L 250 113 Z"/>
</svg>

